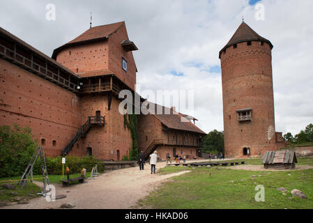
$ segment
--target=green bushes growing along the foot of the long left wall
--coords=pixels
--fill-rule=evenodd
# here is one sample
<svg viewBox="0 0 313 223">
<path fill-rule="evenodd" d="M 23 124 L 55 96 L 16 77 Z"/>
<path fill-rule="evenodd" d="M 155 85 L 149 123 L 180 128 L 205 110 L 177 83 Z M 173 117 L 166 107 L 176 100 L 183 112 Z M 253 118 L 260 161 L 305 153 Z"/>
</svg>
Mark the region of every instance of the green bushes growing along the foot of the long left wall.
<svg viewBox="0 0 313 223">
<path fill-rule="evenodd" d="M 0 127 L 0 177 L 22 176 L 27 165 L 38 147 L 38 142 L 31 139 L 29 127 L 20 128 L 14 125 Z M 48 174 L 62 174 L 62 157 L 45 157 Z M 80 173 L 85 168 L 91 171 L 98 164 L 98 171 L 103 171 L 102 162 L 92 156 L 74 157 L 67 156 L 64 167 L 70 168 L 70 174 Z M 65 169 L 65 168 L 64 168 Z M 33 174 L 42 174 L 40 168 L 40 157 L 33 166 Z"/>
</svg>

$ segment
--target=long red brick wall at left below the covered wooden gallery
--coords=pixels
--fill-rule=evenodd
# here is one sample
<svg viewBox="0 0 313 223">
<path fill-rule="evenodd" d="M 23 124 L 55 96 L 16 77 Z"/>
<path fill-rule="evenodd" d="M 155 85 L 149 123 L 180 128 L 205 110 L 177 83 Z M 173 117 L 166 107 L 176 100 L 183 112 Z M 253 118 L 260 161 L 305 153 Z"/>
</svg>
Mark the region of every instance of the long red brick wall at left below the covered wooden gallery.
<svg viewBox="0 0 313 223">
<path fill-rule="evenodd" d="M 0 102 L 0 125 L 29 126 L 33 139 L 45 139 L 47 155 L 61 155 L 80 126 L 79 99 L 74 93 L 3 59 Z"/>
</svg>

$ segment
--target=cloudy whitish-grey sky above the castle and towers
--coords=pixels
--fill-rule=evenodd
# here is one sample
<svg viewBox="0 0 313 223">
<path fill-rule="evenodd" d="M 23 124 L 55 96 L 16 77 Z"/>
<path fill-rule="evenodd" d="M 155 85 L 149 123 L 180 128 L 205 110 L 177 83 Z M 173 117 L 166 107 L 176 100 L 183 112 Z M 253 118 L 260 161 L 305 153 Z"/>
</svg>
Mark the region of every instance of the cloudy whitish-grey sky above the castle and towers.
<svg viewBox="0 0 313 223">
<path fill-rule="evenodd" d="M 56 20 L 46 20 L 53 3 Z M 257 4 L 264 20 L 257 20 Z M 223 130 L 222 82 L 218 52 L 242 17 L 273 48 L 276 131 L 298 133 L 313 123 L 312 0 L 0 0 L 0 26 L 41 52 L 67 43 L 93 26 L 125 21 L 138 51 L 137 84 L 142 91 L 194 91 L 197 125 L 205 132 Z M 259 14 L 257 14 L 259 15 Z"/>
</svg>

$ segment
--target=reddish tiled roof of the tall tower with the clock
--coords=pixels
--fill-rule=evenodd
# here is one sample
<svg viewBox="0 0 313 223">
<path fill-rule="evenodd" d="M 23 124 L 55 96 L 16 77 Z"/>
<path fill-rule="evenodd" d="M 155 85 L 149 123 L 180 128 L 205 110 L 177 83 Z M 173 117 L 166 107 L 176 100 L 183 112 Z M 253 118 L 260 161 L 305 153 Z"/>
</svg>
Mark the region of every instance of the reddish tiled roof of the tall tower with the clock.
<svg viewBox="0 0 313 223">
<path fill-rule="evenodd" d="M 86 30 L 81 35 L 77 36 L 74 40 L 62 45 L 61 47 L 58 47 L 54 49 L 54 52 L 52 54 L 52 59 L 56 59 L 56 55 L 66 47 L 70 45 L 77 45 L 80 43 L 86 43 L 86 42 L 92 42 L 95 40 L 99 40 L 102 38 L 107 38 L 112 33 L 114 33 L 117 29 L 119 29 L 125 22 L 116 22 L 113 24 L 106 24 L 102 26 L 95 26 L 91 27 L 91 29 Z"/>
</svg>

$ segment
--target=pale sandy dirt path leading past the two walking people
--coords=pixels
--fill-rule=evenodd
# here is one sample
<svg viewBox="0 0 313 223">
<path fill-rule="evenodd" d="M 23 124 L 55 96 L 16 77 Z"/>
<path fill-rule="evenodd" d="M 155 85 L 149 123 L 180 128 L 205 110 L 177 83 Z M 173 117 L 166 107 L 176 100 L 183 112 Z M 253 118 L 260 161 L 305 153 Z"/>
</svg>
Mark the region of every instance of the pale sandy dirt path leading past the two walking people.
<svg viewBox="0 0 313 223">
<path fill-rule="evenodd" d="M 157 164 L 157 171 L 162 167 L 165 167 L 165 162 Z M 56 195 L 66 194 L 67 197 L 64 199 L 48 202 L 45 197 L 39 197 L 31 199 L 27 204 L 5 206 L 3 208 L 59 208 L 62 203 L 73 203 L 75 208 L 80 209 L 132 208 L 139 199 L 146 197 L 162 181 L 186 172 L 188 171 L 168 175 L 151 174 L 149 164 L 145 165 L 144 171 L 139 171 L 139 167 L 119 169 L 101 174 L 95 180 L 87 180 L 87 183 L 70 187 L 54 184 Z M 42 186 L 42 183 L 38 183 L 38 185 Z"/>
</svg>

